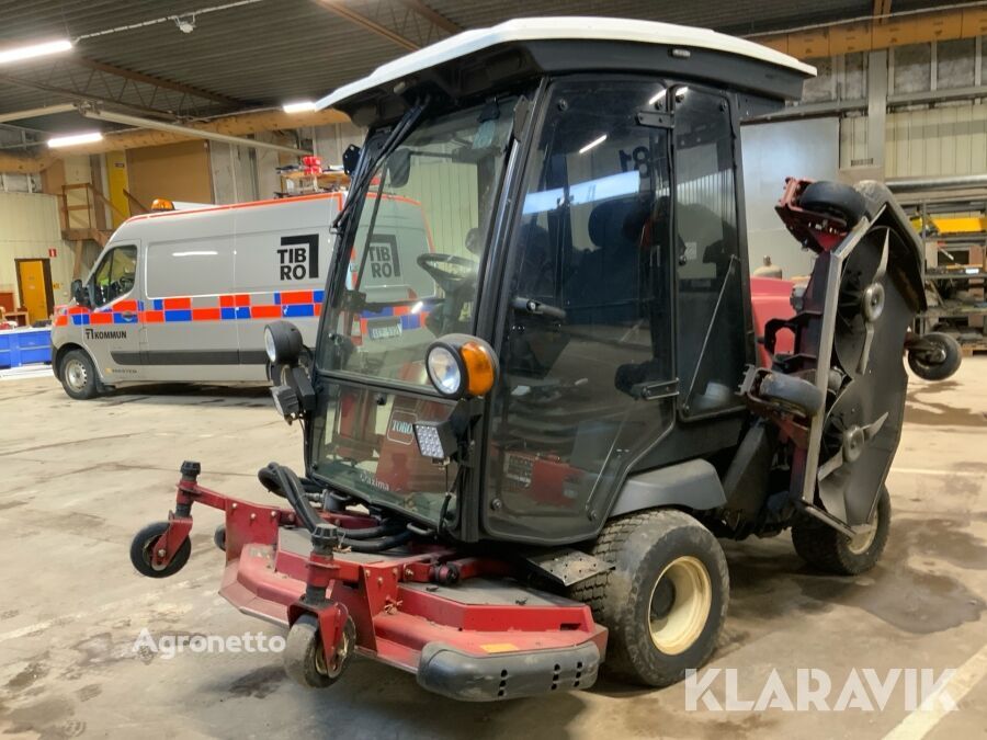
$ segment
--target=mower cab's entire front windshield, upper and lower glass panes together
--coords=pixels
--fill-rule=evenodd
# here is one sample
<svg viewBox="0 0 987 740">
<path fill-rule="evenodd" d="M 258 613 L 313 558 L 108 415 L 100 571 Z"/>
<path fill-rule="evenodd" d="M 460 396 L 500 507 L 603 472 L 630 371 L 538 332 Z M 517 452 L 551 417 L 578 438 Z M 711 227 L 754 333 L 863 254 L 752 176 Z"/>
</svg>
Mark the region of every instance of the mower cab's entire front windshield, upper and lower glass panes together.
<svg viewBox="0 0 987 740">
<path fill-rule="evenodd" d="M 473 332 L 478 271 L 514 99 L 423 119 L 371 174 L 330 277 L 311 470 L 426 522 L 454 519 L 458 465 L 419 454 L 415 424 L 444 420 L 424 368 L 436 337 Z M 412 392 L 379 392 L 366 382 Z M 434 398 L 428 395 L 434 394 Z"/>
</svg>

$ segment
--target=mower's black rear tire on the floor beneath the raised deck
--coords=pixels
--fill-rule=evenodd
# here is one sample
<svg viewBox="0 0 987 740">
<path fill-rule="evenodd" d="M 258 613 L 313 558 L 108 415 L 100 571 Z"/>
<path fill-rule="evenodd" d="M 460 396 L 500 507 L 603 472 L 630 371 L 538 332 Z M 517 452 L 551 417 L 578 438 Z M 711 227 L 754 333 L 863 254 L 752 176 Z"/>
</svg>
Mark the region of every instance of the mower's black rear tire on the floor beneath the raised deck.
<svg viewBox="0 0 987 740">
<path fill-rule="evenodd" d="M 890 497 L 881 488 L 873 526 L 855 537 L 848 537 L 822 522 L 799 519 L 792 525 L 792 544 L 807 563 L 836 576 L 858 576 L 881 559 L 890 530 Z"/>
</svg>

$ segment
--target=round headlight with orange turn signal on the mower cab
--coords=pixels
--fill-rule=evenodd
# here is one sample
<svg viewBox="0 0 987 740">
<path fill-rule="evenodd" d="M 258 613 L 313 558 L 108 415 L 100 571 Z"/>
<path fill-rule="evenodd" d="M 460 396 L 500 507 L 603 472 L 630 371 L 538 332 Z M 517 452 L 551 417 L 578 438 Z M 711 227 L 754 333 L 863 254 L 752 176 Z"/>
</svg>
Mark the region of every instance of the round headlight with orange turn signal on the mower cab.
<svg viewBox="0 0 987 740">
<path fill-rule="evenodd" d="M 492 348 L 469 334 L 445 334 L 429 345 L 426 369 L 446 398 L 485 396 L 494 388 L 498 362 Z"/>
</svg>

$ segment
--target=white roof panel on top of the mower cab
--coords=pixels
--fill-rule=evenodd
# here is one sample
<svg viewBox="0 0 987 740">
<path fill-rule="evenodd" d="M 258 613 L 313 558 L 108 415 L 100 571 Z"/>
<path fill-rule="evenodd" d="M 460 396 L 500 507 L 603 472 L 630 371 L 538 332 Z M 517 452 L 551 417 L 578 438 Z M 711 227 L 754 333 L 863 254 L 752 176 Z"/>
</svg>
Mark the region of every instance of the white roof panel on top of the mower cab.
<svg viewBox="0 0 987 740">
<path fill-rule="evenodd" d="M 363 79 L 344 84 L 316 103 L 319 109 L 329 107 L 347 98 L 399 80 L 408 75 L 435 67 L 457 57 L 481 49 L 525 41 L 624 41 L 637 44 L 660 44 L 712 49 L 726 54 L 758 59 L 769 65 L 816 76 L 816 68 L 803 64 L 762 44 L 727 36 L 708 29 L 688 25 L 632 21 L 620 18 L 556 16 L 525 18 L 500 23 L 490 29 L 474 29 L 450 36 L 418 52 L 377 67 Z"/>
</svg>

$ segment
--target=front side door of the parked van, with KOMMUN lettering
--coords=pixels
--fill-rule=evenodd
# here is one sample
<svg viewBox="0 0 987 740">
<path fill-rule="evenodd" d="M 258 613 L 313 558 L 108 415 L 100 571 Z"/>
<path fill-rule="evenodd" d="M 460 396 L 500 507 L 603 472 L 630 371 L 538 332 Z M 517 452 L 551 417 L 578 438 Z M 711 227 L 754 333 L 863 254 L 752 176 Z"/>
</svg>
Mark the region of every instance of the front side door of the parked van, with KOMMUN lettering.
<svg viewBox="0 0 987 740">
<path fill-rule="evenodd" d="M 106 250 L 87 285 L 92 310 L 72 317 L 82 325 L 83 344 L 107 384 L 144 378 L 138 252 L 136 243 Z"/>
</svg>

